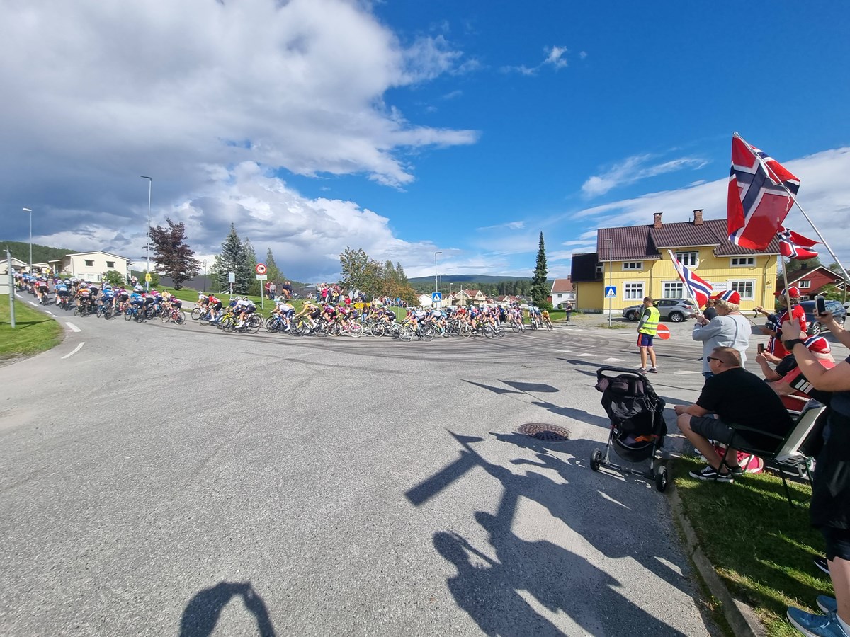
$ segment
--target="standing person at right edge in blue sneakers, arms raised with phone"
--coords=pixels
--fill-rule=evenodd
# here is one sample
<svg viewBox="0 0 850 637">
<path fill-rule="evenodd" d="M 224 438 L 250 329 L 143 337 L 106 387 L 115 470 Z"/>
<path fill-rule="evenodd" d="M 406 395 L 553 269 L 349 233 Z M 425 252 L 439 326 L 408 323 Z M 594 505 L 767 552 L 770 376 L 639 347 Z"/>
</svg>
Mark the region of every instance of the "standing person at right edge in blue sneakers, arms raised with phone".
<svg viewBox="0 0 850 637">
<path fill-rule="evenodd" d="M 850 347 L 850 334 L 831 313 L 818 315 L 819 323 Z M 825 429 L 824 447 L 818 454 L 809 514 L 812 526 L 826 541 L 826 559 L 835 598 L 820 595 L 817 603 L 825 615 L 798 608 L 788 609 L 788 618 L 805 634 L 850 634 L 850 357 L 825 369 L 805 347 L 802 321 L 793 318 L 780 324 L 783 347 L 794 353 L 802 374 L 812 385 L 832 392 Z"/>
</svg>

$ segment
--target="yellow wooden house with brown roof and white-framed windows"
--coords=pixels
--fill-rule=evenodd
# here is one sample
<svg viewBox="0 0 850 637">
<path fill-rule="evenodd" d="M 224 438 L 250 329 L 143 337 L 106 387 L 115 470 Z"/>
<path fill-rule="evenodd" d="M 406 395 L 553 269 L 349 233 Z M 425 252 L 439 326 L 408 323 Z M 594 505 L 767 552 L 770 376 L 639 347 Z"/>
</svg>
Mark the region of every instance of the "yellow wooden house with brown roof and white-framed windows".
<svg viewBox="0 0 850 637">
<path fill-rule="evenodd" d="M 776 239 L 764 251 L 753 251 L 728 240 L 726 219 L 703 219 L 695 210 L 689 222 L 662 223 L 655 213 L 650 225 L 599 228 L 596 252 L 575 254 L 572 283 L 575 307 L 583 312 L 610 311 L 639 305 L 644 296 L 684 298 L 668 250 L 683 265 L 705 279 L 714 292 L 737 290 L 741 309 L 774 307 L 774 287 L 779 258 Z M 606 298 L 606 288 L 615 296 Z"/>
</svg>

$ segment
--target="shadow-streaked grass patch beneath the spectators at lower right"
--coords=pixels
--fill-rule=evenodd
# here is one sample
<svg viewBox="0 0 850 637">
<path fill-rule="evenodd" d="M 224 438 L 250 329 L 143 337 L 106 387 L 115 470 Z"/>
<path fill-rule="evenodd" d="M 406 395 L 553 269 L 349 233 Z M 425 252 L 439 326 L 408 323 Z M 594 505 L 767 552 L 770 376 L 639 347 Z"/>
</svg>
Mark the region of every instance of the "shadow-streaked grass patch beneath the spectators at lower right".
<svg viewBox="0 0 850 637">
<path fill-rule="evenodd" d="M 769 472 L 716 484 L 688 475 L 701 466 L 677 460 L 673 476 L 706 557 L 733 595 L 755 609 L 769 635 L 799 637 L 785 609 L 820 612 L 815 598 L 833 595 L 829 577 L 812 563 L 825 547 L 809 526 L 808 502 L 789 506 L 781 479 Z M 808 484 L 789 485 L 795 502 L 812 494 Z"/>
</svg>

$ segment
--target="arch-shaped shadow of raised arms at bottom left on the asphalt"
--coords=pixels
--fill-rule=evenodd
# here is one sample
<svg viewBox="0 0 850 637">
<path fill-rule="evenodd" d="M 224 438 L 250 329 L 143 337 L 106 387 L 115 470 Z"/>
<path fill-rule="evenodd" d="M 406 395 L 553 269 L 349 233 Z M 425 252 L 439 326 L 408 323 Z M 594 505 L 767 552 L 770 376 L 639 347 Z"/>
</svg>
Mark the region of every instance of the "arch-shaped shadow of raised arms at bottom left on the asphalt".
<svg viewBox="0 0 850 637">
<path fill-rule="evenodd" d="M 212 588 L 199 591 L 186 604 L 183 617 L 180 617 L 180 637 L 208 637 L 215 629 L 224 606 L 236 596 L 241 596 L 242 603 L 254 616 L 258 634 L 275 637 L 269 610 L 250 582 L 219 582 Z"/>
</svg>

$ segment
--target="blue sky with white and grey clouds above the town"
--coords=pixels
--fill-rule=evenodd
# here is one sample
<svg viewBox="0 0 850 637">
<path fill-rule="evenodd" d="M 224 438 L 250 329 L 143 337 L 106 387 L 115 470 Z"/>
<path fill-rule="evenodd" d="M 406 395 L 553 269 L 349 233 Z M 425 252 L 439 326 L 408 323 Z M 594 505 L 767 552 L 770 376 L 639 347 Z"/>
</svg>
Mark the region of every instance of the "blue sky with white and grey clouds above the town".
<svg viewBox="0 0 850 637">
<path fill-rule="evenodd" d="M 147 175 L 151 224 L 208 263 L 234 223 L 308 283 L 346 247 L 530 276 L 542 232 L 564 277 L 597 228 L 725 217 L 739 132 L 850 267 L 850 11 L 740 9 L 4 0 L 0 239 L 28 207 L 37 244 L 144 262 Z"/>
</svg>

